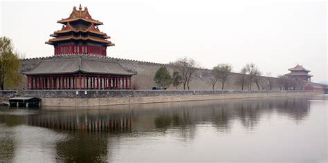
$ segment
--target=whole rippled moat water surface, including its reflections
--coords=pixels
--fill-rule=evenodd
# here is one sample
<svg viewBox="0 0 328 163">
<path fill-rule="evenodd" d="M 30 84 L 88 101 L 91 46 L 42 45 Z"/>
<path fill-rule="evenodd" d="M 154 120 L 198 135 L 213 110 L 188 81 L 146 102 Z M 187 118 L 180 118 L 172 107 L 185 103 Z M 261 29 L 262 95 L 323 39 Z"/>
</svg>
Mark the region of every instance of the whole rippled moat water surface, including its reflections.
<svg viewBox="0 0 328 163">
<path fill-rule="evenodd" d="M 328 97 L 0 106 L 0 162 L 327 162 Z"/>
</svg>

